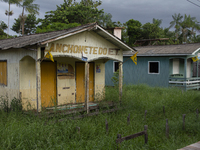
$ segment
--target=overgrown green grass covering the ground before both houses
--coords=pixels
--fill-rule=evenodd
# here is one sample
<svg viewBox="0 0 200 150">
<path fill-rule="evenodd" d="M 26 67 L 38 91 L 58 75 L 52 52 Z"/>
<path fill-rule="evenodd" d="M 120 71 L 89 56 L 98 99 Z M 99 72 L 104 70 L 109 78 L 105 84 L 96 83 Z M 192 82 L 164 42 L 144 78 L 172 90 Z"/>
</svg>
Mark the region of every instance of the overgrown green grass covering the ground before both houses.
<svg viewBox="0 0 200 150">
<path fill-rule="evenodd" d="M 118 89 L 106 88 L 105 101 L 118 101 Z M 163 114 L 165 106 L 165 115 Z M 47 118 L 25 116 L 19 111 L 0 112 L 0 149 L 116 149 L 117 134 L 122 137 L 144 130 L 148 125 L 148 144 L 144 136 L 124 141 L 121 149 L 175 150 L 200 141 L 200 92 L 152 88 L 146 85 L 123 87 L 122 107 L 111 114 L 100 114 L 79 120 L 48 122 Z M 144 112 L 147 110 L 146 121 Z M 130 114 L 130 125 L 127 116 Z M 186 114 L 185 130 L 182 115 Z M 106 134 L 105 120 L 109 134 Z M 165 136 L 166 119 L 169 139 Z M 47 122 L 47 124 L 45 124 Z M 76 127 L 80 127 L 78 134 Z"/>
</svg>

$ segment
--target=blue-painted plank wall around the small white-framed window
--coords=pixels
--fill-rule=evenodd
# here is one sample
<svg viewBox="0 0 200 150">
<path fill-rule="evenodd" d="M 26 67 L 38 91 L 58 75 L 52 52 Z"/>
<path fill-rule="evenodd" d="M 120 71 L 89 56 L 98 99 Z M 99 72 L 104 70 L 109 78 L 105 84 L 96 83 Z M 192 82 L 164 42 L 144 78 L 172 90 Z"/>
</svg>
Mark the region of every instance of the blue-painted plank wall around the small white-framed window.
<svg viewBox="0 0 200 150">
<path fill-rule="evenodd" d="M 124 57 L 125 62 L 130 57 Z M 148 74 L 148 61 L 160 61 L 160 73 Z M 113 76 L 113 61 L 106 62 L 105 83 L 113 86 L 111 78 Z M 168 87 L 169 82 L 169 57 L 137 57 L 137 65 L 129 59 L 123 64 L 123 83 L 140 84 L 145 83 L 150 86 Z"/>
</svg>

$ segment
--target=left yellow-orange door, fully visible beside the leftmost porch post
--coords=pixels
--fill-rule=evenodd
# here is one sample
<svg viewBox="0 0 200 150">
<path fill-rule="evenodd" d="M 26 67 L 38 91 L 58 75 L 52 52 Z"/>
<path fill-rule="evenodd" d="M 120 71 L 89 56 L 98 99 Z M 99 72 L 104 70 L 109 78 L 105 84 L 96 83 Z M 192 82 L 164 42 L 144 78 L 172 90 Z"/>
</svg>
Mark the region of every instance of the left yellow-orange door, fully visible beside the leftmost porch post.
<svg viewBox="0 0 200 150">
<path fill-rule="evenodd" d="M 42 107 L 55 106 L 56 97 L 56 63 L 41 63 L 41 104 Z"/>
</svg>

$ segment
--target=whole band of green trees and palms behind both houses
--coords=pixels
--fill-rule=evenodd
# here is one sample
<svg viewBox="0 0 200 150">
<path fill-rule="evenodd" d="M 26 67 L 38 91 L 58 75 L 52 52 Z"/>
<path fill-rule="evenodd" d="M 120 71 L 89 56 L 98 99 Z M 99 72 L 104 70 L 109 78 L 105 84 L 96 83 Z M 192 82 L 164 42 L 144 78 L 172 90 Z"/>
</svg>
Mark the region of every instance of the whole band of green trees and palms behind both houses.
<svg viewBox="0 0 200 150">
<path fill-rule="evenodd" d="M 56 10 L 49 10 L 43 18 L 36 18 L 39 14 L 39 5 L 34 4 L 35 0 L 0 0 L 9 5 L 9 10 L 6 11 L 8 16 L 8 27 L 0 29 L 0 39 L 11 38 L 12 36 L 4 33 L 5 29 L 9 30 L 9 17 L 13 14 L 10 11 L 10 4 L 15 4 L 22 8 L 22 13 L 19 18 L 14 19 L 12 30 L 22 35 L 34 33 L 43 33 L 50 31 L 64 30 L 79 25 L 98 22 L 105 29 L 113 27 L 123 27 L 122 41 L 129 46 L 140 46 L 137 40 L 146 39 L 162 39 L 155 42 L 142 43 L 142 46 L 149 44 L 170 45 L 182 43 L 200 42 L 200 24 L 195 17 L 190 15 L 181 15 L 180 13 L 172 15 L 172 21 L 168 28 L 161 27 L 162 18 L 152 18 L 152 22 L 142 24 L 138 20 L 130 19 L 127 22 L 112 21 L 112 14 L 104 12 L 103 9 L 98 9 L 101 6 L 101 0 L 64 0 L 63 4 L 57 5 Z M 25 12 L 29 14 L 26 15 Z M 8 31 L 9 32 L 9 31 Z M 109 32 L 112 32 L 109 30 Z"/>
</svg>

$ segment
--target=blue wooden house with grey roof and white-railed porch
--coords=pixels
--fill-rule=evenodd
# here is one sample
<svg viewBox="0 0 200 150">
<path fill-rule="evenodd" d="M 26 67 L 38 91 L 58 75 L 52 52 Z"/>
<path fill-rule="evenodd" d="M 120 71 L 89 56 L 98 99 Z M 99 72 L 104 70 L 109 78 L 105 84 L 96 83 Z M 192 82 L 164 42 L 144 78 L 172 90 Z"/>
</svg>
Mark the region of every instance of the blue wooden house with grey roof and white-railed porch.
<svg viewBox="0 0 200 150">
<path fill-rule="evenodd" d="M 130 59 L 133 52 L 123 52 L 124 84 L 175 86 L 185 90 L 200 88 L 200 68 L 195 61 L 200 56 L 200 43 L 134 48 L 138 51 L 137 65 Z M 118 64 L 113 60 L 106 62 L 107 86 L 113 86 L 111 78 Z"/>
</svg>

